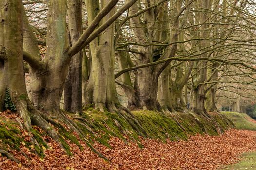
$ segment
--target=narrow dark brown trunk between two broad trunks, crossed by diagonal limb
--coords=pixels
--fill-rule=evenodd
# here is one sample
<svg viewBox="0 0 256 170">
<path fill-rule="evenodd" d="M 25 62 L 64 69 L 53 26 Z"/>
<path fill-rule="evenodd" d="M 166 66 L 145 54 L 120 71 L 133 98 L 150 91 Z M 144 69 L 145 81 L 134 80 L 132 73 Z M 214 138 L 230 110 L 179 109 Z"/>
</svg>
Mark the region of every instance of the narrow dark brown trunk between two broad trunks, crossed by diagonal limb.
<svg viewBox="0 0 256 170">
<path fill-rule="evenodd" d="M 82 0 L 68 0 L 69 32 L 71 45 L 82 34 Z M 69 112 L 82 112 L 82 51 L 71 58 L 66 85 L 64 88 L 64 109 Z"/>
</svg>

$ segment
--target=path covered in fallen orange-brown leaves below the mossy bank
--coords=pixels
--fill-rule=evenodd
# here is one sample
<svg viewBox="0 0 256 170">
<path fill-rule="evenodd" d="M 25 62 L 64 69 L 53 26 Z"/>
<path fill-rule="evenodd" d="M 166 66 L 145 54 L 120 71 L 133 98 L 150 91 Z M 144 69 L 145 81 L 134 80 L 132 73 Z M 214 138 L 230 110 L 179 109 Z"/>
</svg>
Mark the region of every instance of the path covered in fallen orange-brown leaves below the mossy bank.
<svg viewBox="0 0 256 170">
<path fill-rule="evenodd" d="M 0 170 L 216 170 L 237 162 L 241 153 L 256 151 L 256 132 L 232 129 L 220 136 L 196 135 L 188 141 L 166 143 L 146 139 L 142 141 L 143 149 L 131 141 L 124 143 L 118 138 L 111 138 L 109 143 L 112 149 L 100 144 L 95 144 L 95 147 L 110 163 L 99 158 L 85 143 L 82 143 L 83 151 L 71 144 L 76 154 L 68 157 L 51 140 L 51 148 L 45 150 L 44 159 L 23 148 L 23 152 L 32 157 L 31 160 L 18 151 L 12 152 L 21 164 L 0 156 Z"/>
</svg>

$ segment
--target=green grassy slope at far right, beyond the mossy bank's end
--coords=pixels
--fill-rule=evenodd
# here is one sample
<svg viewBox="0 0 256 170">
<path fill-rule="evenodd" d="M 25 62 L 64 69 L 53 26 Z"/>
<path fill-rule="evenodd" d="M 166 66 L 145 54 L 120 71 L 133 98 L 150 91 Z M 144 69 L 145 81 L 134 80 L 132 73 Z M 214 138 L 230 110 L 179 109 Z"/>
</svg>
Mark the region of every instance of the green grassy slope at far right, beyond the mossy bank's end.
<svg viewBox="0 0 256 170">
<path fill-rule="evenodd" d="M 234 123 L 236 129 L 256 131 L 256 123 L 251 122 L 250 120 L 253 119 L 246 113 L 222 112 L 222 114 L 226 115 Z"/>
</svg>

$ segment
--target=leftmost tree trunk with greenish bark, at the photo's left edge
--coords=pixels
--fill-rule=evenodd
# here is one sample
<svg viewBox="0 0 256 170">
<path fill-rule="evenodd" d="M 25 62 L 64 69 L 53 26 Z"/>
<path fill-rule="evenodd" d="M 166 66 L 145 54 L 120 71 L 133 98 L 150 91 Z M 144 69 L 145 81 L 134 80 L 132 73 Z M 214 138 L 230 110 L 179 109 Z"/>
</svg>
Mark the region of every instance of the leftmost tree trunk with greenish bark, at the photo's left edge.
<svg viewBox="0 0 256 170">
<path fill-rule="evenodd" d="M 6 85 L 10 90 L 11 100 L 24 120 L 25 127 L 30 129 L 23 70 L 22 0 L 1 0 L 0 6 L 0 53 L 5 58 L 3 74 L 7 80 Z"/>
</svg>

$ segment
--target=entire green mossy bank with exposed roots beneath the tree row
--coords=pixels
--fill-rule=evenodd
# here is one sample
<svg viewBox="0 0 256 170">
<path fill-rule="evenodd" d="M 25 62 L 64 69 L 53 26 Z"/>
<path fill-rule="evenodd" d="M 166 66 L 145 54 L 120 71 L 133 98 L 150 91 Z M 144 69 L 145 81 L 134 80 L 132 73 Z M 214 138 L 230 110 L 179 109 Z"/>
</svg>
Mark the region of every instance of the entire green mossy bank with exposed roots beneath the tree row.
<svg viewBox="0 0 256 170">
<path fill-rule="evenodd" d="M 140 147 L 140 137 L 159 139 L 165 142 L 170 140 L 186 140 L 188 135 L 209 134 L 218 135 L 225 130 L 234 127 L 233 123 L 223 114 L 210 113 L 211 118 L 205 118 L 193 113 L 170 113 L 162 114 L 153 111 L 138 110 L 133 111 L 134 118 L 138 121 L 143 129 L 143 132 L 137 129 L 123 115 L 110 112 L 99 112 L 95 109 L 84 111 L 79 117 L 75 114 L 67 113 L 70 119 L 77 123 L 79 128 L 87 134 L 87 142 L 95 141 L 110 147 L 108 140 L 115 136 L 123 140 L 130 138 L 137 142 Z M 75 143 L 82 150 L 79 144 L 79 139 L 75 137 L 72 130 L 65 128 L 59 123 L 54 124 L 55 128 L 61 134 L 61 144 L 67 151 L 68 155 L 73 153 L 67 144 L 67 140 Z M 31 130 L 34 138 L 40 141 L 41 148 L 47 148 L 47 144 L 41 136 L 46 135 L 39 132 L 35 128 Z M 31 152 L 36 150 L 40 157 L 43 157 L 43 150 L 40 147 L 31 147 L 31 143 L 27 142 L 22 136 L 23 130 L 20 129 L 16 119 L 9 119 L 0 116 L 0 149 L 4 150 L 19 150 L 20 146 L 28 147 Z"/>
</svg>

